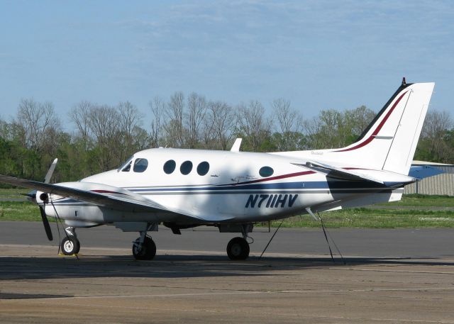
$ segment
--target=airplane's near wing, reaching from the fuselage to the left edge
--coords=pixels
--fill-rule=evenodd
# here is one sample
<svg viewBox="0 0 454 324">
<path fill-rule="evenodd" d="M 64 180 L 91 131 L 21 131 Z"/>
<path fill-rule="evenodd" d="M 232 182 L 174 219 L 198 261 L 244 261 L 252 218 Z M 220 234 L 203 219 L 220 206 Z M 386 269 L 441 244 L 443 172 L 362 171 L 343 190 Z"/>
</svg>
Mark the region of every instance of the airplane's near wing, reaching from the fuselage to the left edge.
<svg viewBox="0 0 454 324">
<path fill-rule="evenodd" d="M 196 218 L 204 221 L 220 221 L 228 218 L 204 217 L 193 215 L 187 212 L 174 211 L 160 205 L 155 201 L 147 199 L 132 191 L 121 189 L 116 186 L 106 184 L 94 184 L 90 182 L 67 182 L 62 184 L 45 184 L 39 181 L 20 179 L 0 174 L 0 182 L 12 184 L 13 186 L 23 186 L 25 188 L 37 189 L 48 194 L 78 199 L 97 206 L 112 208 L 119 211 L 160 213 L 163 215 L 182 216 L 182 218 Z"/>
</svg>

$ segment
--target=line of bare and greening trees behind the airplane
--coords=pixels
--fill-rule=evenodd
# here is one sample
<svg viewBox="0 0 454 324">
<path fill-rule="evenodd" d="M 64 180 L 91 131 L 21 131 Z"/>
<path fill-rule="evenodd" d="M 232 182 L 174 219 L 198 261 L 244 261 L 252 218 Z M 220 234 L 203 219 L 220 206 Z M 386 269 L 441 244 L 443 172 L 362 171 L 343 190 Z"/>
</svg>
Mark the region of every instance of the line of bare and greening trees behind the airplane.
<svg viewBox="0 0 454 324">
<path fill-rule="evenodd" d="M 151 118 L 129 101 L 116 106 L 81 101 L 67 128 L 50 101 L 22 99 L 11 121 L 0 119 L 0 173 L 42 181 L 55 157 L 52 181 L 74 181 L 114 169 L 134 152 L 151 147 L 229 150 L 243 138 L 241 150 L 275 152 L 349 145 L 372 121 L 365 106 L 327 109 L 305 119 L 290 101 L 279 98 L 231 105 L 201 94 L 177 91 L 148 104 Z M 69 129 L 69 130 L 68 130 Z M 454 128 L 449 113 L 426 117 L 415 160 L 454 163 Z"/>
</svg>

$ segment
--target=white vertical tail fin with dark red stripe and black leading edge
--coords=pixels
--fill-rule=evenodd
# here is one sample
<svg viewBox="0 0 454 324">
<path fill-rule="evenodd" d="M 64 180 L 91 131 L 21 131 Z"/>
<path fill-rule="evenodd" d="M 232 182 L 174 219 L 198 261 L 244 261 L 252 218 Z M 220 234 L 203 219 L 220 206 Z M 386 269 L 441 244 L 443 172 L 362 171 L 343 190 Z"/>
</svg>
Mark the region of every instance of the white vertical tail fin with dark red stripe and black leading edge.
<svg viewBox="0 0 454 324">
<path fill-rule="evenodd" d="M 402 82 L 357 142 L 325 151 L 323 160 L 364 164 L 368 168 L 408 174 L 433 86 L 433 82 Z"/>
</svg>

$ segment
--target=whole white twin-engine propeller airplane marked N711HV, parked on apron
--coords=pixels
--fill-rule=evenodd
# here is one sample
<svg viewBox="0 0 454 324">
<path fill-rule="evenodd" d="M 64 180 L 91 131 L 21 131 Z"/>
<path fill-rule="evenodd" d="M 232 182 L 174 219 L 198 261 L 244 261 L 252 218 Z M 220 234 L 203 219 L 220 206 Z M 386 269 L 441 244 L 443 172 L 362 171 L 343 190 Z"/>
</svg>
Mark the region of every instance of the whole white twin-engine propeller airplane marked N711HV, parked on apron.
<svg viewBox="0 0 454 324">
<path fill-rule="evenodd" d="M 62 252 L 79 252 L 76 228 L 115 225 L 137 231 L 135 259 L 153 259 L 147 235 L 165 225 L 175 234 L 199 225 L 241 233 L 227 245 L 230 259 L 249 255 L 258 222 L 397 201 L 409 175 L 434 83 L 406 84 L 384 105 L 356 143 L 329 150 L 255 153 L 155 148 L 121 167 L 77 182 L 50 184 L 0 175 L 0 182 L 35 189 L 49 240 L 47 217 L 65 220 Z M 315 216 L 314 216 L 315 217 Z"/>
</svg>

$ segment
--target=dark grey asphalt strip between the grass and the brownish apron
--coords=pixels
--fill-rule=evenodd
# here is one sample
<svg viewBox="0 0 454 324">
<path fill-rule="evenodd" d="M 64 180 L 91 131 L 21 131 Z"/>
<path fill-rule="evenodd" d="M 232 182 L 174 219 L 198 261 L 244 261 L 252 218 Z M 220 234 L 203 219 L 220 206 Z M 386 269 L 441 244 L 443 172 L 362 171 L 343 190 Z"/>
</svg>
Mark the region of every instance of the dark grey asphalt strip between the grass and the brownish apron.
<svg viewBox="0 0 454 324">
<path fill-rule="evenodd" d="M 0 222 L 0 244 L 54 246 L 57 252 L 58 231 L 51 223 L 54 240 L 46 238 L 43 224 L 39 222 Z M 250 234 L 254 242 L 251 255 L 260 255 L 275 228 L 256 227 Z M 160 250 L 186 250 L 199 252 L 225 252 L 228 240 L 238 233 L 218 233 L 216 228 L 201 227 L 182 230 L 175 235 L 160 226 L 158 232 L 149 232 Z M 63 235 L 60 227 L 60 235 Z M 362 257 L 454 257 L 454 228 L 423 229 L 328 229 L 333 253 L 336 243 L 342 255 Z M 123 233 L 111 225 L 96 228 L 78 228 L 77 236 L 84 247 L 115 247 L 131 249 L 131 242 L 138 233 Z M 321 228 L 281 228 L 270 243 L 267 253 L 287 255 L 329 255 L 328 245 Z"/>
</svg>

